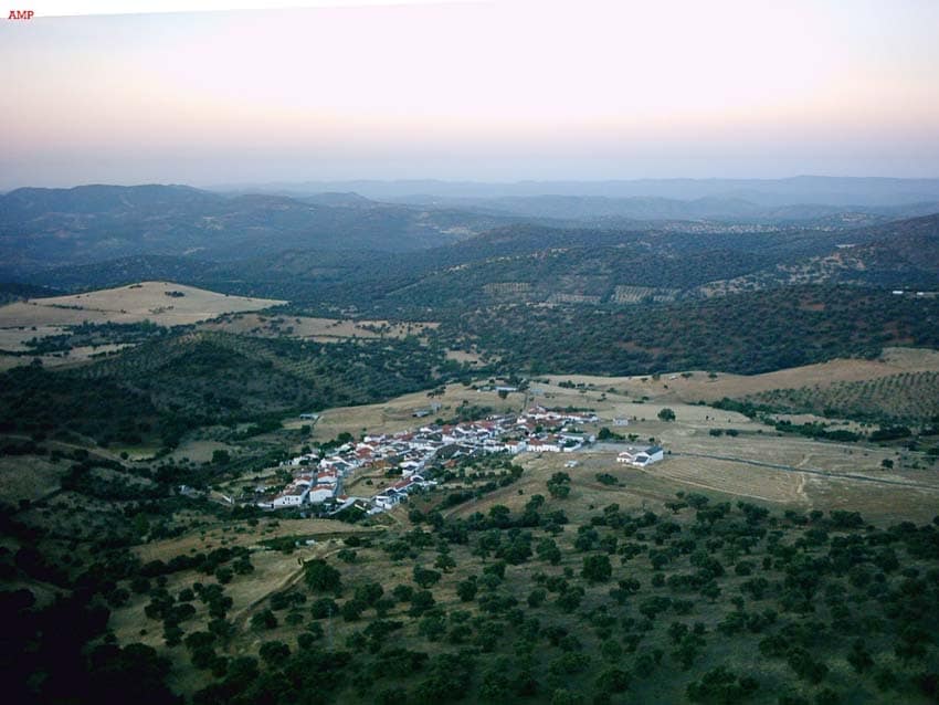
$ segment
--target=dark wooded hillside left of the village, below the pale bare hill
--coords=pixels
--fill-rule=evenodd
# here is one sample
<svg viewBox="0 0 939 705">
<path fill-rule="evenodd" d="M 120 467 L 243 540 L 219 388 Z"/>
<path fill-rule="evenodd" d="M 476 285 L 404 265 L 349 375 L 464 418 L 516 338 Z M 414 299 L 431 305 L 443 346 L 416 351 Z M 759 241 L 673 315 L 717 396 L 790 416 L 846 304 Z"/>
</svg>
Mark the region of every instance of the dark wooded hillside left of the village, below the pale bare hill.
<svg viewBox="0 0 939 705">
<path fill-rule="evenodd" d="M 197 427 L 369 403 L 462 373 L 412 339 L 324 345 L 182 332 L 67 371 L 3 372 L 0 429 L 172 448 Z"/>
</svg>

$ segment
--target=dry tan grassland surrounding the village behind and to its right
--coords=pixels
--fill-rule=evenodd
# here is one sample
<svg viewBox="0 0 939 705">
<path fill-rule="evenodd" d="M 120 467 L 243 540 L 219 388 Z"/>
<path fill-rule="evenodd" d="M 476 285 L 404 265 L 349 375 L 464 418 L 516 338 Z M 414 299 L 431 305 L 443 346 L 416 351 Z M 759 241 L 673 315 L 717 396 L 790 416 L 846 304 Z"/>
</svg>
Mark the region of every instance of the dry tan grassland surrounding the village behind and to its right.
<svg viewBox="0 0 939 705">
<path fill-rule="evenodd" d="M 503 400 L 495 392 L 452 385 L 444 394 L 433 398 L 415 393 L 384 404 L 330 409 L 314 427 L 314 435 L 327 440 L 342 431 L 356 435 L 362 431 L 414 429 L 424 420 L 413 418 L 412 412 L 431 403 L 442 407 L 426 420 L 451 418 L 464 401 L 504 411 L 540 403 L 549 408 L 591 409 L 600 420 L 588 424 L 589 430 L 597 432 L 605 425 L 622 435 L 634 434 L 636 443 L 654 439 L 668 453 L 663 462 L 646 470 L 618 464 L 615 443 L 601 443 L 573 454 L 521 454 L 517 462 L 526 467 L 526 473 L 519 483 L 456 507 L 453 509 L 456 516 L 485 511 L 490 504 L 520 509 L 531 494 L 545 494 L 545 483 L 553 472 L 569 473 L 574 477 L 574 488 L 582 487 L 588 493 L 587 504 L 598 506 L 612 502 L 641 506 L 643 502 L 667 501 L 675 492 L 685 491 L 718 493 L 778 508 L 844 508 L 880 522 L 903 518 L 928 522 L 939 507 L 939 474 L 935 463 L 920 452 L 783 435 L 739 413 L 680 402 L 636 403 L 626 400 L 629 397 L 605 391 L 612 380 L 582 379 L 592 381 L 591 389 L 561 388 L 541 381 L 532 383 L 528 393 L 513 392 Z M 676 421 L 657 418 L 665 406 L 675 411 Z M 614 427 L 614 418 L 626 419 L 629 425 Z M 738 434 L 710 434 L 713 430 L 730 429 Z M 578 466 L 566 469 L 565 463 L 570 460 L 576 460 Z M 883 467 L 885 460 L 894 463 L 891 470 Z M 621 486 L 597 482 L 595 476 L 601 473 L 620 478 Z M 388 482 L 380 473 L 373 473 L 370 478 L 372 485 L 367 485 L 367 476 L 357 475 L 347 487 L 355 494 L 370 495 Z"/>
</svg>

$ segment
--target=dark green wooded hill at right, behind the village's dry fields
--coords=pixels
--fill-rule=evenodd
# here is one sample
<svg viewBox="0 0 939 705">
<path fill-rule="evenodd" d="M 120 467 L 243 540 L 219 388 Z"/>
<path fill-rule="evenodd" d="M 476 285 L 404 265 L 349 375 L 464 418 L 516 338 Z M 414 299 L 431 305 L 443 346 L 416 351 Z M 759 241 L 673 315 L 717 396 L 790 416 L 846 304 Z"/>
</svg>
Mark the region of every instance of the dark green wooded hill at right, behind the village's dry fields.
<svg viewBox="0 0 939 705">
<path fill-rule="evenodd" d="M 939 299 L 876 290 L 789 287 L 701 302 L 610 309 L 506 305 L 444 318 L 441 340 L 535 373 L 752 375 L 889 345 L 939 346 Z"/>
</svg>

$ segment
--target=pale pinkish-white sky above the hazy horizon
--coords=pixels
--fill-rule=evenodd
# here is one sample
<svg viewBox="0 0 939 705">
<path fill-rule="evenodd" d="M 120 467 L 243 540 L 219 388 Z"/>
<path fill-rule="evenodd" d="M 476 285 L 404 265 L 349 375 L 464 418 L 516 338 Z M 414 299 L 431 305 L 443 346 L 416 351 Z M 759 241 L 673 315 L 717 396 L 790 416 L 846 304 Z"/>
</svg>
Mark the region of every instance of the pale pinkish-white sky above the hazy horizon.
<svg viewBox="0 0 939 705">
<path fill-rule="evenodd" d="M 317 4 L 0 20 L 0 189 L 939 177 L 935 0 Z"/>
</svg>

